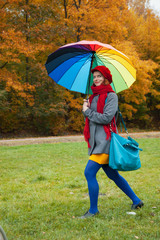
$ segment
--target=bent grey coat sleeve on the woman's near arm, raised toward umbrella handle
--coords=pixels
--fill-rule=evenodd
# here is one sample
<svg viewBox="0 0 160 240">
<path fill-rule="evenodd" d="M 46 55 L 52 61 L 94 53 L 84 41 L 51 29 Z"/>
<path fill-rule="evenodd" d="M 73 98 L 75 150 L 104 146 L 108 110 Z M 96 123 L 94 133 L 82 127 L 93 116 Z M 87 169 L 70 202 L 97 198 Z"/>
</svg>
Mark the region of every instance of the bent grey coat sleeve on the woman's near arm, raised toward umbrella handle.
<svg viewBox="0 0 160 240">
<path fill-rule="evenodd" d="M 112 121 L 114 115 L 116 114 L 118 109 L 118 97 L 115 93 L 108 94 L 107 103 L 104 106 L 103 113 L 98 113 L 88 108 L 84 115 L 88 117 L 88 119 L 97 124 L 108 124 Z"/>
</svg>

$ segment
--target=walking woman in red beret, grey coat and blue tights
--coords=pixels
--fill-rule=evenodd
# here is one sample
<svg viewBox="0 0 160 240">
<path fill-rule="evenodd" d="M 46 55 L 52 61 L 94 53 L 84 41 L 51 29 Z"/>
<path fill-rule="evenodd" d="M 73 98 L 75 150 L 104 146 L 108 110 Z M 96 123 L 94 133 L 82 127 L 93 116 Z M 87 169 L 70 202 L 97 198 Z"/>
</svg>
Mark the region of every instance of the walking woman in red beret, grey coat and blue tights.
<svg viewBox="0 0 160 240">
<path fill-rule="evenodd" d="M 141 208 L 144 204 L 133 192 L 127 181 L 109 167 L 109 147 L 111 129 L 116 132 L 115 115 L 118 109 L 118 97 L 111 87 L 112 75 L 105 66 L 92 69 L 93 94 L 89 101 L 84 100 L 83 114 L 86 117 L 84 137 L 88 142 L 89 161 L 85 168 L 88 183 L 90 209 L 80 218 L 93 217 L 98 214 L 99 185 L 96 174 L 100 168 L 132 200 L 132 209 Z"/>
</svg>

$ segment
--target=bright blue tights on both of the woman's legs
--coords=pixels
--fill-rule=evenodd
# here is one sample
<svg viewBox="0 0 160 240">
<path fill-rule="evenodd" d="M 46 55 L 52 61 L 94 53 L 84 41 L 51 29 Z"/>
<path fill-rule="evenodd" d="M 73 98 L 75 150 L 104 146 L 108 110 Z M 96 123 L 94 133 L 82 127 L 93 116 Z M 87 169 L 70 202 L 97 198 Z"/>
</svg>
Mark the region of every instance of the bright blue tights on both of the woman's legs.
<svg viewBox="0 0 160 240">
<path fill-rule="evenodd" d="M 90 197 L 90 213 L 98 212 L 98 194 L 99 185 L 96 179 L 98 170 L 102 167 L 108 178 L 113 180 L 115 184 L 133 201 L 133 204 L 138 204 L 141 200 L 136 196 L 128 182 L 118 173 L 117 170 L 113 170 L 108 164 L 98 164 L 89 160 L 85 168 L 85 177 L 88 183 L 89 197 Z"/>
</svg>

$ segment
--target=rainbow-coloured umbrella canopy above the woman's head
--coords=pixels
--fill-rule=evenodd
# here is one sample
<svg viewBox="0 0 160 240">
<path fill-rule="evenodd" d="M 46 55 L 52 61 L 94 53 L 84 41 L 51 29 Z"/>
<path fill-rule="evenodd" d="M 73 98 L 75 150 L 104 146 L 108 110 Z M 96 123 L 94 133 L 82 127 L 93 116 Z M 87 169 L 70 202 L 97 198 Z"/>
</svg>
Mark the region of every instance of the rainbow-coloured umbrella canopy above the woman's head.
<svg viewBox="0 0 160 240">
<path fill-rule="evenodd" d="M 60 47 L 48 56 L 48 75 L 59 85 L 84 94 L 91 93 L 91 69 L 103 65 L 111 71 L 112 88 L 118 93 L 136 80 L 136 70 L 129 58 L 109 44 L 80 41 Z"/>
</svg>

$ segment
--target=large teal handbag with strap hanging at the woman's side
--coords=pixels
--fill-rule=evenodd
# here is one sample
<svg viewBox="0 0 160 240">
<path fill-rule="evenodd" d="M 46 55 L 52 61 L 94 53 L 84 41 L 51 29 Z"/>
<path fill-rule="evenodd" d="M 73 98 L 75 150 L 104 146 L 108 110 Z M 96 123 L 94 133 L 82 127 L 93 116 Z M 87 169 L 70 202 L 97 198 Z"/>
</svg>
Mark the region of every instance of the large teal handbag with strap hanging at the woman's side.
<svg viewBox="0 0 160 240">
<path fill-rule="evenodd" d="M 127 132 L 123 118 L 122 116 L 120 117 Z M 118 171 L 133 171 L 139 169 L 141 167 L 139 151 L 142 151 L 142 149 L 139 148 L 139 144 L 130 136 L 126 139 L 111 132 L 109 166 L 112 169 Z"/>
</svg>

